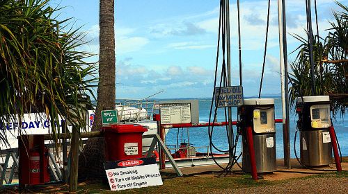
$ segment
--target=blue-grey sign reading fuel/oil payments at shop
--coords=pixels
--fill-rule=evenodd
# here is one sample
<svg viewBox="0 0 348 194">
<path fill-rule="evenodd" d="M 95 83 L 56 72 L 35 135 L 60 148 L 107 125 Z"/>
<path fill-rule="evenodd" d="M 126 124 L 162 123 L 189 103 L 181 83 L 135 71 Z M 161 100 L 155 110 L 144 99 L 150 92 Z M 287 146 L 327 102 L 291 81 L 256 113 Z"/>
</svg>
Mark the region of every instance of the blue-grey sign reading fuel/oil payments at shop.
<svg viewBox="0 0 348 194">
<path fill-rule="evenodd" d="M 237 107 L 243 105 L 243 87 L 216 87 L 214 90 L 216 107 Z"/>
</svg>

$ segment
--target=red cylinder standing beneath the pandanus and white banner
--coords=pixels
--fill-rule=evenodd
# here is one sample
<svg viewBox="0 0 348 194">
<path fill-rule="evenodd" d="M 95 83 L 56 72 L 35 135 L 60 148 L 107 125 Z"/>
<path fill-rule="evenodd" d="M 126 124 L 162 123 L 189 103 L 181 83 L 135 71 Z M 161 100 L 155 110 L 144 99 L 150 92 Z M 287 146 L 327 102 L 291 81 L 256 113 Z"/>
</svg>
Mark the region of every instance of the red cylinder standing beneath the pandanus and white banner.
<svg viewBox="0 0 348 194">
<path fill-rule="evenodd" d="M 40 152 L 30 150 L 29 152 L 29 177 L 30 184 L 40 184 Z"/>
</svg>

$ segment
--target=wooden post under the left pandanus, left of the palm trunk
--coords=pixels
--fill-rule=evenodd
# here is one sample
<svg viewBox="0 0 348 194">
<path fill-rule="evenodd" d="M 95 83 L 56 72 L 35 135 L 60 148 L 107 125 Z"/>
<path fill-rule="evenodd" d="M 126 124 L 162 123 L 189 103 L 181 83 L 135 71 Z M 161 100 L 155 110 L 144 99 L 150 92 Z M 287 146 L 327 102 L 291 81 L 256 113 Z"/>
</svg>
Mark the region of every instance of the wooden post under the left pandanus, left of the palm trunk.
<svg viewBox="0 0 348 194">
<path fill-rule="evenodd" d="M 69 191 L 77 191 L 77 178 L 79 177 L 79 145 L 80 136 L 77 127 L 72 126 L 72 138 L 70 143 L 70 175 Z"/>
</svg>

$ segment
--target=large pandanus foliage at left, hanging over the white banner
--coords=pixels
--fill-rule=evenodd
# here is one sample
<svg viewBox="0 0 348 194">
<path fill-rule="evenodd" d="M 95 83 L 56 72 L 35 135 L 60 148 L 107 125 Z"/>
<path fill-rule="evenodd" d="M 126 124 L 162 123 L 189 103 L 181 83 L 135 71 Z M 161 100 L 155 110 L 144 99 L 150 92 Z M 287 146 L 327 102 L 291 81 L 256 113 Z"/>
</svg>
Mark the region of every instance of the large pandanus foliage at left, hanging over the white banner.
<svg viewBox="0 0 348 194">
<path fill-rule="evenodd" d="M 84 34 L 58 20 L 60 8 L 43 0 L 0 1 L 0 139 L 6 141 L 6 123 L 17 122 L 25 113 L 45 112 L 53 139 L 61 131 L 55 123 L 65 118 L 84 129 L 86 94 L 96 82 L 92 55 L 81 51 Z M 17 116 L 15 116 L 17 115 Z M 4 148 L 1 146 L 1 148 Z"/>
</svg>

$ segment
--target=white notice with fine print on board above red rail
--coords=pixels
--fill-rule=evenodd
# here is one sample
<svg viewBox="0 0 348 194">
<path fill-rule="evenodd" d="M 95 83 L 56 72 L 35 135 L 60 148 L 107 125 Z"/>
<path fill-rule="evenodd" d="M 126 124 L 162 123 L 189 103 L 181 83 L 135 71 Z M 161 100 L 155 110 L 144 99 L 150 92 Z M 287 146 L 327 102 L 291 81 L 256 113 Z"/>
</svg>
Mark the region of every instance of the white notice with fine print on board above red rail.
<svg viewBox="0 0 348 194">
<path fill-rule="evenodd" d="M 160 104 L 161 124 L 191 123 L 191 103 Z"/>
</svg>

